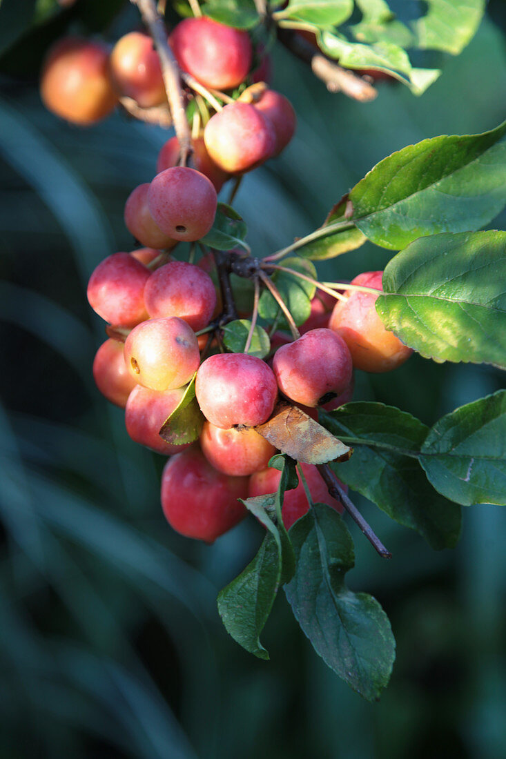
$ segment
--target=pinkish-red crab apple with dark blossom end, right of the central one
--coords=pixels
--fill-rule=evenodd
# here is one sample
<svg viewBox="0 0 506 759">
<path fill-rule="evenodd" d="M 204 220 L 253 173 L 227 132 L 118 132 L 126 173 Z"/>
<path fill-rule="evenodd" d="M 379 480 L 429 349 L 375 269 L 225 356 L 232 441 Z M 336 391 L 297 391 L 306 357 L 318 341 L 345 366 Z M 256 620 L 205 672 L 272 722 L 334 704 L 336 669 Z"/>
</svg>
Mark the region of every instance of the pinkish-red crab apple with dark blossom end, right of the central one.
<svg viewBox="0 0 506 759">
<path fill-rule="evenodd" d="M 349 385 L 352 359 L 343 339 L 330 329 L 312 329 L 274 354 L 272 368 L 280 390 L 290 400 L 318 406 Z"/>
</svg>

